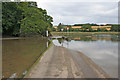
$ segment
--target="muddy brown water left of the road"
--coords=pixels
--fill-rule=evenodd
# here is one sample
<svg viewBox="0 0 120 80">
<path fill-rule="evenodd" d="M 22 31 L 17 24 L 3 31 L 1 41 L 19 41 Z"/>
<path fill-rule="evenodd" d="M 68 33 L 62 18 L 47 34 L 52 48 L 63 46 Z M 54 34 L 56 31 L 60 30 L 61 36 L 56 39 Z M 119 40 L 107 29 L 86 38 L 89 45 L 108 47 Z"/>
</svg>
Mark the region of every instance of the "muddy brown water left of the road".
<svg viewBox="0 0 120 80">
<path fill-rule="evenodd" d="M 46 50 L 47 38 L 2 41 L 2 77 L 21 77 Z"/>
</svg>

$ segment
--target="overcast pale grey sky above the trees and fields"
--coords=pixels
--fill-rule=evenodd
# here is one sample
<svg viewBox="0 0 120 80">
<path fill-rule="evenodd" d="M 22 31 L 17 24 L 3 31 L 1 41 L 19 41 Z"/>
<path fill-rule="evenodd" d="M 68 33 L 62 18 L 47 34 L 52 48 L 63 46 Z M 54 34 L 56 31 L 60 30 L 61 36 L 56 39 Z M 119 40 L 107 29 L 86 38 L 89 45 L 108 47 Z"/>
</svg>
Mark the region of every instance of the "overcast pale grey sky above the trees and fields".
<svg viewBox="0 0 120 80">
<path fill-rule="evenodd" d="M 53 24 L 118 23 L 119 0 L 27 0 L 36 1 L 53 17 Z M 109 2 L 108 2 L 109 1 Z"/>
</svg>

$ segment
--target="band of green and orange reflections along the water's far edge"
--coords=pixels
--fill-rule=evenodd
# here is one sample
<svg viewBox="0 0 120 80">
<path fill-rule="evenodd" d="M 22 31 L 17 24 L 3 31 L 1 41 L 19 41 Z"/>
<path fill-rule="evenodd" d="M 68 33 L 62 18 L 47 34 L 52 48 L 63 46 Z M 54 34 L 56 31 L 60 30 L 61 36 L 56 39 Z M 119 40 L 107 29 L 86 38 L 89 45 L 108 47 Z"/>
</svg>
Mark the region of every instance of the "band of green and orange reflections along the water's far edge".
<svg viewBox="0 0 120 80">
<path fill-rule="evenodd" d="M 55 39 L 55 38 L 53 38 Z M 67 38 L 57 38 L 60 44 L 62 44 L 63 41 L 70 42 L 71 40 L 75 41 L 98 41 L 98 40 L 105 40 L 105 41 L 112 41 L 117 42 L 119 40 L 118 35 L 79 35 L 79 36 L 69 36 Z"/>
</svg>

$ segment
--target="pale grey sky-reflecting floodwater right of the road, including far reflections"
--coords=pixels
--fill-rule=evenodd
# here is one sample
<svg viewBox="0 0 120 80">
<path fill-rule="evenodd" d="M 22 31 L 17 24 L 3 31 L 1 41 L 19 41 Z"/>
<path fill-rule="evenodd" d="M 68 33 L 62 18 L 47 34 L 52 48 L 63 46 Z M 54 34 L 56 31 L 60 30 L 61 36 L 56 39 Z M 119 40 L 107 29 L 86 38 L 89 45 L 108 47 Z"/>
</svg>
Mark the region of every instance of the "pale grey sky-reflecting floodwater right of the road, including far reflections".
<svg viewBox="0 0 120 80">
<path fill-rule="evenodd" d="M 57 46 L 77 50 L 90 57 L 110 77 L 118 77 L 117 35 L 70 35 L 68 39 L 53 39 Z"/>
</svg>

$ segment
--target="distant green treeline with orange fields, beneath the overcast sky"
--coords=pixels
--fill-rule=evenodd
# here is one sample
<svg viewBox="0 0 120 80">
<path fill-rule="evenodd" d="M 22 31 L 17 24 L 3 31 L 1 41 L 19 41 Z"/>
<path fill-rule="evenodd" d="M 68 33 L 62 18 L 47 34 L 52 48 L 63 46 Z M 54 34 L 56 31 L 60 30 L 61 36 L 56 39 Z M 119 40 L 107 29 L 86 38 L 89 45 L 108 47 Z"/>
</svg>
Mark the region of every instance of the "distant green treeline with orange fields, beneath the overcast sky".
<svg viewBox="0 0 120 80">
<path fill-rule="evenodd" d="M 105 25 L 98 25 L 98 24 L 75 24 L 75 25 L 64 25 L 62 23 L 59 23 L 57 26 L 57 31 L 71 31 L 71 32 L 108 32 L 108 31 L 113 31 L 113 32 L 119 32 L 120 31 L 120 25 L 118 24 L 106 24 L 110 25 L 111 27 L 102 27 L 102 28 L 97 28 L 93 29 L 91 26 L 105 26 Z M 81 26 L 81 28 L 72 28 L 72 26 Z M 67 30 L 67 27 L 69 27 L 69 30 Z M 110 28 L 110 30 L 107 30 L 107 28 Z M 52 28 L 53 31 L 56 31 L 55 28 Z"/>
</svg>

